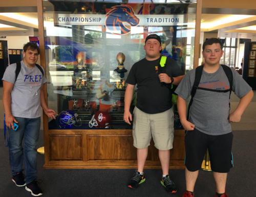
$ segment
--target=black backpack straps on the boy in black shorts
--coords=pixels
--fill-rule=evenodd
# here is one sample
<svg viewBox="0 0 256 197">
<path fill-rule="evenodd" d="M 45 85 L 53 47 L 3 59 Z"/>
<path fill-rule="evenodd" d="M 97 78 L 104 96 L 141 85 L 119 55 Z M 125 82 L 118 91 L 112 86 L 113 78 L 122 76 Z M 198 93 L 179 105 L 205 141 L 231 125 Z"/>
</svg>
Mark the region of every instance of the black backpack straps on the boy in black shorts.
<svg viewBox="0 0 256 197">
<path fill-rule="evenodd" d="M 206 88 L 203 88 L 203 87 L 199 87 L 199 83 L 200 83 L 200 80 L 201 80 L 201 77 L 202 77 L 202 73 L 203 73 L 203 68 L 204 68 L 204 65 L 200 65 L 199 67 L 196 68 L 196 76 L 195 76 L 195 82 L 193 84 L 193 87 L 192 87 L 192 91 L 191 91 L 191 100 L 188 104 L 188 108 L 187 108 L 187 121 L 189 119 L 189 111 L 190 111 L 190 107 L 191 107 L 191 104 L 193 103 L 193 98 L 197 92 L 197 89 L 199 90 L 205 90 L 205 91 L 211 91 L 211 92 L 222 92 L 222 93 L 225 93 L 225 92 L 229 92 L 229 99 L 230 99 L 230 94 L 231 94 L 231 91 L 232 91 L 232 85 L 233 85 L 233 74 L 232 74 L 232 71 L 229 67 L 227 67 L 226 65 L 222 65 L 222 68 L 228 78 L 228 82 L 229 82 L 229 89 L 228 90 L 212 90 L 212 89 L 206 89 Z M 229 103 L 229 109 L 230 109 L 230 103 Z"/>
</svg>

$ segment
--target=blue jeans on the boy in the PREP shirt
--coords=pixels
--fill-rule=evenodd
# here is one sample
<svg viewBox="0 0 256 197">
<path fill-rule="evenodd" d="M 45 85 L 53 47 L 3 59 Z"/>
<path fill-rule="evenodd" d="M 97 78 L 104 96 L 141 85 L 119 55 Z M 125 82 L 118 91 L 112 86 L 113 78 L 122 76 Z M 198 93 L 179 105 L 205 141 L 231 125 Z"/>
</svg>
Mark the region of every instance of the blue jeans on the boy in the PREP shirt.
<svg viewBox="0 0 256 197">
<path fill-rule="evenodd" d="M 12 174 L 23 171 L 23 160 L 25 161 L 25 182 L 26 184 L 37 179 L 36 177 L 36 146 L 39 138 L 39 130 L 41 119 L 38 118 L 19 118 L 15 117 L 18 121 L 18 129 L 9 130 L 9 161 L 12 169 Z M 22 141 L 24 138 L 24 148 Z"/>
</svg>

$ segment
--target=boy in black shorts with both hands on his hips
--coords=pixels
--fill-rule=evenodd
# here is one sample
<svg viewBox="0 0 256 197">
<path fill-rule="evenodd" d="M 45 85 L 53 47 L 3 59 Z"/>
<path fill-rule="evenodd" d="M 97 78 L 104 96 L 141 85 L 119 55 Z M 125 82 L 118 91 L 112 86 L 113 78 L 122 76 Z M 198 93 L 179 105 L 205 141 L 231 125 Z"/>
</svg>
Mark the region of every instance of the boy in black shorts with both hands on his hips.
<svg viewBox="0 0 256 197">
<path fill-rule="evenodd" d="M 212 90 L 230 89 L 228 78 L 220 65 L 223 44 L 217 38 L 210 38 L 203 44 L 203 73 L 199 87 Z M 227 68 L 228 69 L 228 68 Z M 183 197 L 194 196 L 194 186 L 208 148 L 211 170 L 216 182 L 215 197 L 227 197 L 225 192 L 227 172 L 233 166 L 231 152 L 233 134 L 230 122 L 239 122 L 245 108 L 250 103 L 253 92 L 244 79 L 231 69 L 232 91 L 240 98 L 234 112 L 229 114 L 229 92 L 197 90 L 186 120 L 186 99 L 191 95 L 196 69 L 189 71 L 180 82 L 175 93 L 181 123 L 187 130 L 185 136 L 185 178 L 186 192 Z"/>
</svg>

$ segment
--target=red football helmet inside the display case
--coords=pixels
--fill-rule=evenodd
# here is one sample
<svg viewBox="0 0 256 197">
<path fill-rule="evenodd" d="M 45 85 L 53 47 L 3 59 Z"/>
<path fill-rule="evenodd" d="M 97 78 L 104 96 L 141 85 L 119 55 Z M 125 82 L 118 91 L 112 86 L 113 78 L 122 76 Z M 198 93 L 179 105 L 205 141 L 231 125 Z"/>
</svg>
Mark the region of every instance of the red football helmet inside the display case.
<svg viewBox="0 0 256 197">
<path fill-rule="evenodd" d="M 110 113 L 105 110 L 100 110 L 93 115 L 92 120 L 89 122 L 89 126 L 95 126 L 96 128 L 109 128 L 111 121 Z"/>
</svg>

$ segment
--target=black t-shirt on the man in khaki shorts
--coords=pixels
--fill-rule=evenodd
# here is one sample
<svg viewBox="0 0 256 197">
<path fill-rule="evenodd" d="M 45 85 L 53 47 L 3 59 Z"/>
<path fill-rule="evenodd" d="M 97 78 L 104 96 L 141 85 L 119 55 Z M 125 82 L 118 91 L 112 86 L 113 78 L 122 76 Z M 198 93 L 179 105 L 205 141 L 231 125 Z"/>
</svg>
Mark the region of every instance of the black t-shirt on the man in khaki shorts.
<svg viewBox="0 0 256 197">
<path fill-rule="evenodd" d="M 144 58 L 136 62 L 126 79 L 126 82 L 131 85 L 137 83 L 136 107 L 147 114 L 165 112 L 172 107 L 170 91 L 165 85 L 161 86 L 158 77 L 160 59 L 161 57 L 153 61 L 148 61 Z M 173 59 L 167 58 L 165 67 L 165 73 L 169 77 L 184 75 L 176 61 Z"/>
</svg>

